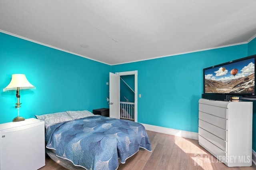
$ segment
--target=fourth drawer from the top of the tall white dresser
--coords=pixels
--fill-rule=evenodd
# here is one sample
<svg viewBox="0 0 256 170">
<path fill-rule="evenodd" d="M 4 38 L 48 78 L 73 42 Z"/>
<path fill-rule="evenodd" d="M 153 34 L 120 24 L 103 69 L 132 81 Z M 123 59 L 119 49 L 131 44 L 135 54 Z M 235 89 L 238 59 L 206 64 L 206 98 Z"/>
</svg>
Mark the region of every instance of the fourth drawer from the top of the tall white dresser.
<svg viewBox="0 0 256 170">
<path fill-rule="evenodd" d="M 211 134 L 202 128 L 198 128 L 198 134 L 227 152 L 227 142 L 225 140 L 215 136 L 214 134 Z"/>
</svg>

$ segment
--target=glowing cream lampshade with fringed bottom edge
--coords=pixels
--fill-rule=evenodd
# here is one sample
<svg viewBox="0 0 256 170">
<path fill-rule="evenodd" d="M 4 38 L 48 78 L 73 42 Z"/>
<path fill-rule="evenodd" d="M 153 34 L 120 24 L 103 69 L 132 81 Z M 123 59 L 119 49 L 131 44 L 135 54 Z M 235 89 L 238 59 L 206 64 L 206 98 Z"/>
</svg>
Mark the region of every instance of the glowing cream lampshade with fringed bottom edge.
<svg viewBox="0 0 256 170">
<path fill-rule="evenodd" d="M 3 89 L 3 91 L 12 91 L 17 90 L 17 88 L 20 88 L 20 90 L 23 89 L 36 89 L 31 83 L 28 82 L 28 79 L 26 78 L 26 75 L 24 74 L 13 74 L 12 80 L 9 83 L 7 87 Z"/>
</svg>

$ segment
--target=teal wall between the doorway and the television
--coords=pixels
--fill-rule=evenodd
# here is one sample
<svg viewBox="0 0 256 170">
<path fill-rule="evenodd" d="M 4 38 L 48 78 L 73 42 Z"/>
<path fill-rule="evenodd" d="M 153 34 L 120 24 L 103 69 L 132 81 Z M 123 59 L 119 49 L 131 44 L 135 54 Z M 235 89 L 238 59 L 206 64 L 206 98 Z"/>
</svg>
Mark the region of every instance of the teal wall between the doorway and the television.
<svg viewBox="0 0 256 170">
<path fill-rule="evenodd" d="M 247 56 L 247 44 L 113 65 L 138 70 L 138 122 L 198 132 L 203 68 Z"/>
</svg>

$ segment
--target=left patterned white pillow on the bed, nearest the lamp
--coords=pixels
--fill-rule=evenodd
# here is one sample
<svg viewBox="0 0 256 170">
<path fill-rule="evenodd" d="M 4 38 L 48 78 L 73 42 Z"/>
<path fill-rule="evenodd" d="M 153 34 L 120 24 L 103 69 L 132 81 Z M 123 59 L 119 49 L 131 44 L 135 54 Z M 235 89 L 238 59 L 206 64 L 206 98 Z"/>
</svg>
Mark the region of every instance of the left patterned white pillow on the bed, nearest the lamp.
<svg viewBox="0 0 256 170">
<path fill-rule="evenodd" d="M 45 128 L 57 123 L 72 121 L 72 117 L 66 112 L 50 113 L 45 115 L 36 115 L 36 118 L 44 121 Z"/>
</svg>

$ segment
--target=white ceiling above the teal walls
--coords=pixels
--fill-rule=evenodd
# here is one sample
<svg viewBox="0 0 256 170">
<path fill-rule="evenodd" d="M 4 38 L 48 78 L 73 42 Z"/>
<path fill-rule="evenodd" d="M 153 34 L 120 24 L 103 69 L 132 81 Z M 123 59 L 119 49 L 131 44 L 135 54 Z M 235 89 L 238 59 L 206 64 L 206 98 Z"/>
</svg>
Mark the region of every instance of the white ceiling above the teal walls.
<svg viewBox="0 0 256 170">
<path fill-rule="evenodd" d="M 0 31 L 126 63 L 249 42 L 255 0 L 0 0 Z"/>
</svg>

